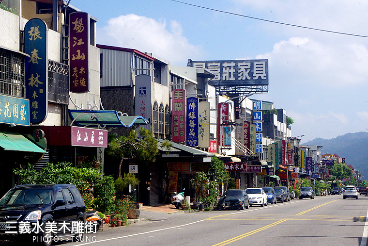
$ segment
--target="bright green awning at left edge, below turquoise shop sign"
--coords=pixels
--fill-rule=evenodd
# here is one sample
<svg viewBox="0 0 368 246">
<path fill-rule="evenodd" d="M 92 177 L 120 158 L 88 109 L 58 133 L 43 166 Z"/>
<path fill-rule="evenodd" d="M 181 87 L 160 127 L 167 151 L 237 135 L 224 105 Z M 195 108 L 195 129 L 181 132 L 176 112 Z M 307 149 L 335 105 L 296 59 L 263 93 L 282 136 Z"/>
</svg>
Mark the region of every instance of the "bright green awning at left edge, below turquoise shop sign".
<svg viewBox="0 0 368 246">
<path fill-rule="evenodd" d="M 17 132 L 0 131 L 0 147 L 4 150 L 47 153 Z"/>
</svg>

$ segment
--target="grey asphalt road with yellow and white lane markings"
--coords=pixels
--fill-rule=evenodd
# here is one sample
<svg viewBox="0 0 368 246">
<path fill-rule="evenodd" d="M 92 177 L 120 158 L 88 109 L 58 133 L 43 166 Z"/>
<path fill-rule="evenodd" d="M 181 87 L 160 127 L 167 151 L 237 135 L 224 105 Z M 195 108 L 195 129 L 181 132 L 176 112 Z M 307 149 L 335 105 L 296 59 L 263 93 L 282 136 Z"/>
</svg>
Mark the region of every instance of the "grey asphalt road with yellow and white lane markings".
<svg viewBox="0 0 368 246">
<path fill-rule="evenodd" d="M 152 212 L 146 214 L 150 220 L 86 235 L 87 242 L 54 245 L 366 246 L 367 214 L 368 196 L 344 200 L 341 195 L 252 206 L 244 211 Z"/>
</svg>

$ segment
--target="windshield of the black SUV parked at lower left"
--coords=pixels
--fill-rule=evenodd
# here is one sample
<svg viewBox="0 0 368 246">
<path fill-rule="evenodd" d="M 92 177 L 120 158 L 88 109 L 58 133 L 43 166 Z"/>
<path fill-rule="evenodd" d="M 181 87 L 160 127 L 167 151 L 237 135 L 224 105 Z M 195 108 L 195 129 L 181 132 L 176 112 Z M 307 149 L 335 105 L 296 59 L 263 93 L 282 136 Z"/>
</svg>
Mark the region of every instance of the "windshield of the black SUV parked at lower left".
<svg viewBox="0 0 368 246">
<path fill-rule="evenodd" d="M 51 189 L 15 189 L 0 200 L 0 205 L 46 205 L 51 203 Z"/>
</svg>

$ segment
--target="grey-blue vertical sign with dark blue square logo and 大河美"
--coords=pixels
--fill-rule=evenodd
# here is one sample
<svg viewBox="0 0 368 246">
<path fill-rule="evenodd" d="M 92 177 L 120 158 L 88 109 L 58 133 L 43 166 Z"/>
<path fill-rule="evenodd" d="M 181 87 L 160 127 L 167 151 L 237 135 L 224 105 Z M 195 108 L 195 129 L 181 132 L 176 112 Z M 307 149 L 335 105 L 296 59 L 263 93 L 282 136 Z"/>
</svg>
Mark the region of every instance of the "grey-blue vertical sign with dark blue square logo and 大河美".
<svg viewBox="0 0 368 246">
<path fill-rule="evenodd" d="M 152 119 L 151 76 L 140 74 L 136 76 L 135 114 L 146 119 Z"/>
</svg>

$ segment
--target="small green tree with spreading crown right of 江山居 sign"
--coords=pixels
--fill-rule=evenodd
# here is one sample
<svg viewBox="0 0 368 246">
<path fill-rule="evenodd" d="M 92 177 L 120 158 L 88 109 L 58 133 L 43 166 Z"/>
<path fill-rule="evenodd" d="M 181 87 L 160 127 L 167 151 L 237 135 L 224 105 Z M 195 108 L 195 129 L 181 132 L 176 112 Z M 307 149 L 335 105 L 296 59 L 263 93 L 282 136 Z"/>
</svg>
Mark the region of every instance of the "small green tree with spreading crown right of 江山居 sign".
<svg viewBox="0 0 368 246">
<path fill-rule="evenodd" d="M 120 159 L 118 178 L 121 178 L 122 164 L 126 160 L 136 160 L 142 163 L 154 162 L 159 154 L 157 140 L 152 131 L 140 128 L 138 134 L 131 131 L 128 136 L 110 138 L 107 153 Z"/>
</svg>

